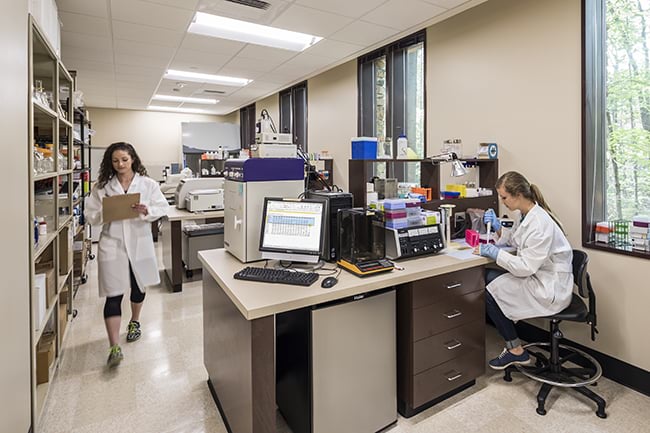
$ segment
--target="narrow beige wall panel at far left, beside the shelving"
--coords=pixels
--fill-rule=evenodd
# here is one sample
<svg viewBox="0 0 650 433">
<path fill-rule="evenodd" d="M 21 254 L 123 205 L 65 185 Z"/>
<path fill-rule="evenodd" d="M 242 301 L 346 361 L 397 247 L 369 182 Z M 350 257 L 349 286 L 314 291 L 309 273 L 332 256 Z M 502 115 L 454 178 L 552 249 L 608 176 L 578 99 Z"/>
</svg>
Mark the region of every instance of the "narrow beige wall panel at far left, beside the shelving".
<svg viewBox="0 0 650 433">
<path fill-rule="evenodd" d="M 26 432 L 31 424 L 29 308 L 29 167 L 27 132 L 27 1 L 16 0 L 0 15 L 0 77 L 7 86 L 0 104 L 7 209 L 2 213 L 0 275 L 0 430 Z"/>
</svg>

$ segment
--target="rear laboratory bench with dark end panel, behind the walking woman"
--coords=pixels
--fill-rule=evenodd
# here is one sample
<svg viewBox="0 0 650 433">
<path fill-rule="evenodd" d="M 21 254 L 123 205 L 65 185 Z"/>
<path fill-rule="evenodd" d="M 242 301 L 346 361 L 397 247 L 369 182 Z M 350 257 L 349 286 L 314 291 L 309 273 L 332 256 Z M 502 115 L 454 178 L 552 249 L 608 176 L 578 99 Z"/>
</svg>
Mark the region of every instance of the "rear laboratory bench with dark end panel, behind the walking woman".
<svg viewBox="0 0 650 433">
<path fill-rule="evenodd" d="M 183 221 L 222 222 L 223 210 L 190 212 L 186 209 L 170 207 L 162 220 L 163 266 L 172 290 L 183 290 Z"/>
</svg>

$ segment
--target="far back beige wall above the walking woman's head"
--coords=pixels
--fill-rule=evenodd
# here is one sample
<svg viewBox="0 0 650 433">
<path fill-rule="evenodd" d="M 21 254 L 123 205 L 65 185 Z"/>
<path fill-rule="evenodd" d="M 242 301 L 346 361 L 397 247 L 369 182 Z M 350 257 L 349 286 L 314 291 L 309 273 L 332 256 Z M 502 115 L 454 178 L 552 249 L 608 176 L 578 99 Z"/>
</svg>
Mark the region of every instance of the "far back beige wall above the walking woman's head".
<svg viewBox="0 0 650 433">
<path fill-rule="evenodd" d="M 128 141 L 135 146 L 145 166 L 169 165 L 170 162 L 182 161 L 182 122 L 230 122 L 224 116 L 204 114 L 108 108 L 90 108 L 89 112 L 92 128 L 96 131 L 92 139 L 93 147 Z"/>
</svg>

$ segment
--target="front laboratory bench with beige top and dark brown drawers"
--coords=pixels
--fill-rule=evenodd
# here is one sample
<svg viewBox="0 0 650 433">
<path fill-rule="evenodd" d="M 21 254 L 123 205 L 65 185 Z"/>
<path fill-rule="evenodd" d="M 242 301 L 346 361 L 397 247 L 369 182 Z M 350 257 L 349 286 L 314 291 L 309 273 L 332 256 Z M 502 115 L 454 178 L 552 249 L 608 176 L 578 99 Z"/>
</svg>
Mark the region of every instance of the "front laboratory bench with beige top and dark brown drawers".
<svg viewBox="0 0 650 433">
<path fill-rule="evenodd" d="M 276 359 L 282 356 L 275 349 L 276 320 L 292 311 L 394 289 L 395 419 L 398 410 L 409 417 L 466 389 L 485 371 L 488 259 L 437 254 L 365 278 L 342 271 L 338 284 L 324 289 L 320 280 L 308 287 L 235 280 L 233 274 L 247 265 L 224 249 L 198 255 L 208 385 L 233 433 L 276 431 Z"/>
</svg>

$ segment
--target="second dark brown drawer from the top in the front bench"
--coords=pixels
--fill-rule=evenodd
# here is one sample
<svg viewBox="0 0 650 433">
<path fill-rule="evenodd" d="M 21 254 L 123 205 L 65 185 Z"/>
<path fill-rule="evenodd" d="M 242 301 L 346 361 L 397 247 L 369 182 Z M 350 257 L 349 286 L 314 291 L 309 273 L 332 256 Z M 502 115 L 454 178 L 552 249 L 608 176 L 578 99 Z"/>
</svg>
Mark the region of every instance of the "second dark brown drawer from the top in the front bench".
<svg viewBox="0 0 650 433">
<path fill-rule="evenodd" d="M 485 320 L 483 290 L 447 298 L 413 311 L 413 341 L 478 320 Z"/>
</svg>

